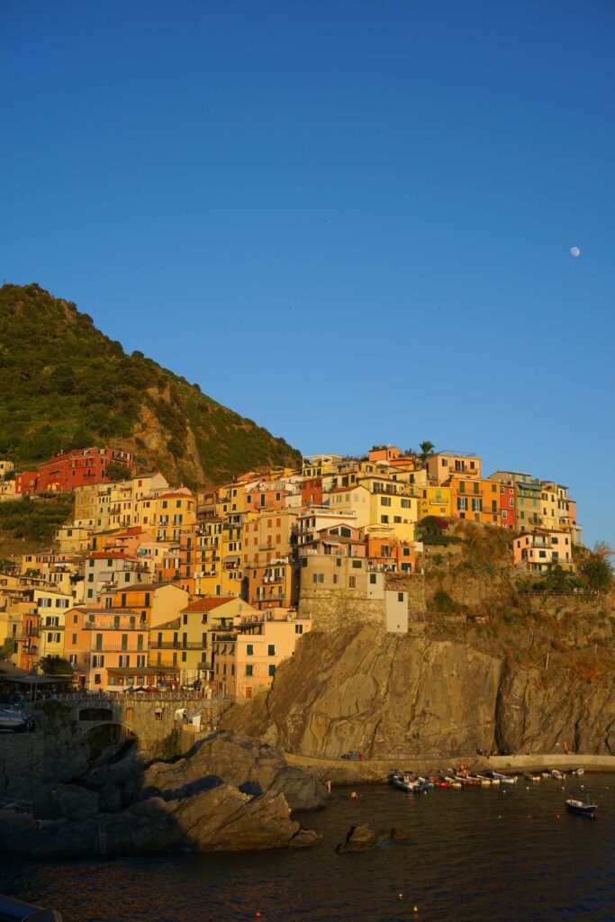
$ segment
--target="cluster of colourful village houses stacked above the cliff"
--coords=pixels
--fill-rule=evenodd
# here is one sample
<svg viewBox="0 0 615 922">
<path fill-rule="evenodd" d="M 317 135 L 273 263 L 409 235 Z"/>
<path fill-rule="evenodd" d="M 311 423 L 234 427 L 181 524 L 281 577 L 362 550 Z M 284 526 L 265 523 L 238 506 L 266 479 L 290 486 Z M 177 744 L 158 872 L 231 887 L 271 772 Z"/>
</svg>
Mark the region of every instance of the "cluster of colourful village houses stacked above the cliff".
<svg viewBox="0 0 615 922">
<path fill-rule="evenodd" d="M 113 480 L 113 464 L 126 479 Z M 87 448 L 15 474 L 0 501 L 71 492 L 56 548 L 0 573 L 0 644 L 35 671 L 60 656 L 88 690 L 207 687 L 249 698 L 313 626 L 349 612 L 407 632 L 425 522 L 507 528 L 511 566 L 574 568 L 582 543 L 566 487 L 475 455 L 313 455 L 197 493 L 138 474 L 126 451 Z"/>
</svg>

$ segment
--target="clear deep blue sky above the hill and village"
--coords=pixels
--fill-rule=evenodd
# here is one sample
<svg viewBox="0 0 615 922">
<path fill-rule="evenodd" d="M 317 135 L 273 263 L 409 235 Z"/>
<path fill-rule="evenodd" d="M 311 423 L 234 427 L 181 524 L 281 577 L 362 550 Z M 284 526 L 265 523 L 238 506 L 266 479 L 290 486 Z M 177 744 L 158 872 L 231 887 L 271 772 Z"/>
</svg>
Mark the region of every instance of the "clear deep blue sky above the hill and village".
<svg viewBox="0 0 615 922">
<path fill-rule="evenodd" d="M 0 36 L 0 278 L 305 453 L 476 451 L 615 543 L 611 0 L 1 0 Z"/>
</svg>

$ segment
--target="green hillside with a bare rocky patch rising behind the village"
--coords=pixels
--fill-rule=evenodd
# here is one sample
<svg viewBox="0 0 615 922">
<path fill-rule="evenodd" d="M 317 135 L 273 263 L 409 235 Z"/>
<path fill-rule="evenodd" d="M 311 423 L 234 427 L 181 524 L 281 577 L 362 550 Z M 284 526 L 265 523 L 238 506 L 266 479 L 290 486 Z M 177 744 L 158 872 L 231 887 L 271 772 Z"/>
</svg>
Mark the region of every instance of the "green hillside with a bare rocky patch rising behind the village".
<svg viewBox="0 0 615 922">
<path fill-rule="evenodd" d="M 283 439 L 142 353 L 127 355 L 75 304 L 38 285 L 0 288 L 0 456 L 19 468 L 112 443 L 190 486 L 292 465 Z"/>
</svg>

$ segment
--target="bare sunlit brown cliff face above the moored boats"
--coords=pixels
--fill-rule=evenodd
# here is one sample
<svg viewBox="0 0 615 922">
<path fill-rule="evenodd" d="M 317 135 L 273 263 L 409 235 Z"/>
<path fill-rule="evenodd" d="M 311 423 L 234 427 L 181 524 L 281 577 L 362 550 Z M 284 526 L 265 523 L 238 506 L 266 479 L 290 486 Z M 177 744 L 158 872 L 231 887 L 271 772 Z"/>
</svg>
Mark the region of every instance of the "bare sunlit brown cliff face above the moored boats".
<svg viewBox="0 0 615 922">
<path fill-rule="evenodd" d="M 467 755 L 478 749 L 615 752 L 612 677 L 597 684 L 523 668 L 467 644 L 373 628 L 311 632 L 274 687 L 225 727 L 290 752 Z"/>
</svg>

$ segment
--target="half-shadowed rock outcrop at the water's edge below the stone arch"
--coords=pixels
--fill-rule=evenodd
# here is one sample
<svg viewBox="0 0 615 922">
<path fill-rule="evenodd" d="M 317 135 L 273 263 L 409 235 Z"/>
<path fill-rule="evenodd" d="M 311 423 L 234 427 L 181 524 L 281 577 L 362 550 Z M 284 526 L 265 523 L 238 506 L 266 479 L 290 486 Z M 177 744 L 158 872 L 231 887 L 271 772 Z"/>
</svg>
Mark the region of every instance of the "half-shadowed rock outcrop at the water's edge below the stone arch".
<svg viewBox="0 0 615 922">
<path fill-rule="evenodd" d="M 135 855 L 306 847 L 320 841 L 291 810 L 323 806 L 325 788 L 258 739 L 215 734 L 185 759 L 144 766 L 135 751 L 118 762 L 41 786 L 34 820 L 0 812 L 0 851 L 31 857 Z M 79 763 L 81 770 L 81 764 Z"/>
</svg>

